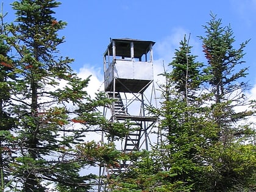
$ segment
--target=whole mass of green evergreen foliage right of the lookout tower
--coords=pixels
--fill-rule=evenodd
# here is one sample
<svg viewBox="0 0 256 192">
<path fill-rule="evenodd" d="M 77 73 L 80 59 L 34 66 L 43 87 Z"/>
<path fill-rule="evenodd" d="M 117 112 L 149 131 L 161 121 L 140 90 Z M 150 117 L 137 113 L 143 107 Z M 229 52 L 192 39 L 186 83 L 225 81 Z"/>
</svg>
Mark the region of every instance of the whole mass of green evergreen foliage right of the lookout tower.
<svg viewBox="0 0 256 192">
<path fill-rule="evenodd" d="M 212 15 L 204 26 L 207 63 L 196 62 L 189 38 L 180 41 L 164 71 L 161 142 L 124 176 L 113 177 L 113 191 L 255 191 L 255 101 L 243 82 L 244 48 L 233 47 L 230 26 Z"/>
</svg>

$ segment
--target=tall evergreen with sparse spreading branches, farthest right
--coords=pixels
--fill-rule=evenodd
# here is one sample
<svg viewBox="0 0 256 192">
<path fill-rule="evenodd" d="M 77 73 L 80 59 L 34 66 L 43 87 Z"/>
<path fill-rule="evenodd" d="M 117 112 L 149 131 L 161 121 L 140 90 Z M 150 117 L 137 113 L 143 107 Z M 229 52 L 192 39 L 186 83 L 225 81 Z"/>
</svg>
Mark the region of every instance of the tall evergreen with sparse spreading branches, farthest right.
<svg viewBox="0 0 256 192">
<path fill-rule="evenodd" d="M 205 178 L 211 183 L 208 191 L 235 191 L 237 186 L 246 189 L 255 176 L 255 160 L 251 158 L 255 155 L 254 141 L 251 140 L 255 131 L 247 122 L 255 113 L 250 108 L 254 101 L 248 101 L 244 94 L 248 86 L 242 78 L 246 77 L 248 68 L 240 66 L 244 63 L 242 59 L 248 41 L 235 49 L 230 26 L 222 27 L 222 21 L 213 14 L 211 16 L 204 26 L 206 35 L 200 38 L 208 60 L 208 84 L 213 95 L 209 118 L 215 120 L 218 135 L 205 151 L 204 158 L 212 168 Z"/>
</svg>

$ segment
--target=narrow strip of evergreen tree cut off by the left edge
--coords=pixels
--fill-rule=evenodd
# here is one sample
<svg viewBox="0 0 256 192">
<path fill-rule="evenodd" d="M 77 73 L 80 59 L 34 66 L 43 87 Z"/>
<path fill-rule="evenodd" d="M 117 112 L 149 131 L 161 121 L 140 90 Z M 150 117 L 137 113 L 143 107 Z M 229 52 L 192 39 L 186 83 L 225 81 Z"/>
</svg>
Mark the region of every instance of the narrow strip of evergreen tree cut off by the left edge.
<svg viewBox="0 0 256 192">
<path fill-rule="evenodd" d="M 3 7 L 3 4 L 2 4 Z M 12 115 L 10 105 L 10 90 L 13 88 L 13 60 L 8 56 L 10 46 L 6 43 L 7 30 L 4 17 L 7 13 L 0 13 L 0 174 L 1 188 L 4 189 L 10 183 L 10 163 L 15 154 L 15 138 L 12 130 L 15 128 L 15 118 Z"/>
</svg>

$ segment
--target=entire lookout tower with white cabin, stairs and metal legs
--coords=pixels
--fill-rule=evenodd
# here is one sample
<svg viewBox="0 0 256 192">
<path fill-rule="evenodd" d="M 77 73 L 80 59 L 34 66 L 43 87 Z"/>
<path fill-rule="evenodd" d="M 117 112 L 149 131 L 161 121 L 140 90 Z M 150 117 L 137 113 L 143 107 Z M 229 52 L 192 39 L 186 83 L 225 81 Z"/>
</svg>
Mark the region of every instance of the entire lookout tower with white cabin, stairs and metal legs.
<svg viewBox="0 0 256 192">
<path fill-rule="evenodd" d="M 116 148 L 129 153 L 149 149 L 149 132 L 156 118 L 147 107 L 155 102 L 153 84 L 154 41 L 130 38 L 113 38 L 104 52 L 104 85 L 108 98 L 115 102 L 105 110 L 112 122 L 127 122 L 131 132 L 123 141 L 116 141 Z M 120 162 L 108 174 L 126 171 L 132 162 Z M 106 170 L 105 170 L 106 171 Z"/>
</svg>

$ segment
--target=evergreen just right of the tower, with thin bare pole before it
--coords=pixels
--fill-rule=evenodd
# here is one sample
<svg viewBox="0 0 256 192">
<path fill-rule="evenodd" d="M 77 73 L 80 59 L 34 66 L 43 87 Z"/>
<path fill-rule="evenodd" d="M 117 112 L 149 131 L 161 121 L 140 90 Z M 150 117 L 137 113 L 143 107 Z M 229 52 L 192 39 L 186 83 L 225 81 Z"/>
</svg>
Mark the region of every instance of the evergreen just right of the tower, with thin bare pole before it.
<svg viewBox="0 0 256 192">
<path fill-rule="evenodd" d="M 168 172 L 164 180 L 175 186 L 172 191 L 196 191 L 204 172 L 204 166 L 199 163 L 200 152 L 207 144 L 205 138 L 212 137 L 210 130 L 202 129 L 208 127 L 205 115 L 201 114 L 201 97 L 205 95 L 199 94 L 205 80 L 203 64 L 195 61 L 191 48 L 186 38 L 180 41 L 180 48 L 169 64 L 171 73 L 163 74 L 166 83 L 161 86 L 162 102 L 155 110 L 161 119 L 159 128 L 163 138 L 153 151 L 157 157 L 155 164 L 160 163 Z"/>
</svg>

